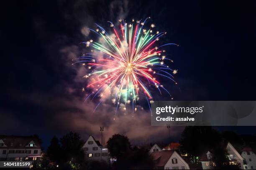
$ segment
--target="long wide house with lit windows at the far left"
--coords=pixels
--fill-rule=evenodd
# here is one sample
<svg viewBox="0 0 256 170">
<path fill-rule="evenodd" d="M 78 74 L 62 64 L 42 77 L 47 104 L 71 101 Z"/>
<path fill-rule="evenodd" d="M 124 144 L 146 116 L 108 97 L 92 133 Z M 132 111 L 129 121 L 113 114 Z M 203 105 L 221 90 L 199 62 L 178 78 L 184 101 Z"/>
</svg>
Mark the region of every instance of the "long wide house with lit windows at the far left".
<svg viewBox="0 0 256 170">
<path fill-rule="evenodd" d="M 0 161 L 33 161 L 41 159 L 41 146 L 33 136 L 0 135 Z"/>
</svg>

